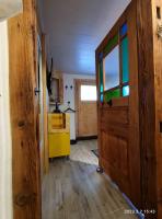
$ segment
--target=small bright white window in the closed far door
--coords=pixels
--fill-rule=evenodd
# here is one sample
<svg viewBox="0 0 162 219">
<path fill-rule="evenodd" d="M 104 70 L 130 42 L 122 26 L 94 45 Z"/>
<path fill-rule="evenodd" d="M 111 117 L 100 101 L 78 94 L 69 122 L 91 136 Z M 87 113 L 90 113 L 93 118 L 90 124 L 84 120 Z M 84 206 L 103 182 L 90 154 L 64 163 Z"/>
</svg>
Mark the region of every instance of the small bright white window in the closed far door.
<svg viewBox="0 0 162 219">
<path fill-rule="evenodd" d="M 81 101 L 96 100 L 96 85 L 81 85 Z"/>
</svg>

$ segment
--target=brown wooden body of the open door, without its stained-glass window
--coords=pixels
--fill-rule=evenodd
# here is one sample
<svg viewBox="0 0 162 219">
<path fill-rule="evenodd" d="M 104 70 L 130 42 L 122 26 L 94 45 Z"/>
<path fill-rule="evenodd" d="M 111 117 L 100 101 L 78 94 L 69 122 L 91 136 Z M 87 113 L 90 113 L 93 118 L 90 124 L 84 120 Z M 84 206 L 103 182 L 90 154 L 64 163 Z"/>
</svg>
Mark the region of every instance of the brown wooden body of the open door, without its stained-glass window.
<svg viewBox="0 0 162 219">
<path fill-rule="evenodd" d="M 136 1 L 132 1 L 96 49 L 96 76 L 99 87 L 99 54 L 120 26 L 127 22 L 129 42 L 129 97 L 112 100 L 99 105 L 100 165 L 117 183 L 120 189 L 140 207 L 140 150 L 138 116 L 138 60 L 136 33 Z M 121 68 L 120 68 L 121 71 Z M 120 76 L 121 78 L 121 76 Z M 120 79 L 121 82 L 121 79 Z M 100 92 L 99 92 L 100 93 Z M 99 94 L 100 100 L 100 94 Z M 136 183 L 135 183 L 136 177 Z"/>
</svg>

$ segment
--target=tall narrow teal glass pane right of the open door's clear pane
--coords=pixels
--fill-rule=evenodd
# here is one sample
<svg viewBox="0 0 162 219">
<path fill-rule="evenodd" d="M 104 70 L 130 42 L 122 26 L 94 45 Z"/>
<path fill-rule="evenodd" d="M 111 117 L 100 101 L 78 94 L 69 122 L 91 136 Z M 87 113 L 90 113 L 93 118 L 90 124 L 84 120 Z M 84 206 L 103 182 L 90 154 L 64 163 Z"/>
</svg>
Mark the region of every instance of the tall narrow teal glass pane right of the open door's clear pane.
<svg viewBox="0 0 162 219">
<path fill-rule="evenodd" d="M 125 37 L 121 42 L 121 62 L 123 62 L 123 83 L 129 81 L 129 55 L 128 55 L 128 38 Z"/>
</svg>

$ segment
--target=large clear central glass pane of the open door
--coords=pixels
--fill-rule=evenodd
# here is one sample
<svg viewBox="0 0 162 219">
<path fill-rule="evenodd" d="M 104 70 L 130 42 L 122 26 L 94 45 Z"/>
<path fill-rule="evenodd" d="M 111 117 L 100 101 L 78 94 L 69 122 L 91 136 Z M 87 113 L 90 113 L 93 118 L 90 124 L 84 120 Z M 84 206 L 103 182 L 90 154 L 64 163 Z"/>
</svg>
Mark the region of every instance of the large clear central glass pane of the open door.
<svg viewBox="0 0 162 219">
<path fill-rule="evenodd" d="M 119 85 L 119 46 L 117 45 L 104 60 L 105 91 Z"/>
</svg>

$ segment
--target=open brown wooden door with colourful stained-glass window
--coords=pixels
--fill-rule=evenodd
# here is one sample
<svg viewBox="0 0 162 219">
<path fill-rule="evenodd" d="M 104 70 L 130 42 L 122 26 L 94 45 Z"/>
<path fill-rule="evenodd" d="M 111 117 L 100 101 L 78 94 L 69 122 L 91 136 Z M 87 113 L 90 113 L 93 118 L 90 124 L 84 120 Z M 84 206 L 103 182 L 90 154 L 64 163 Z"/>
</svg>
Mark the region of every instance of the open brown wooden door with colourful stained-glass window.
<svg viewBox="0 0 162 219">
<path fill-rule="evenodd" d="M 136 13 L 131 1 L 96 49 L 96 76 L 100 165 L 140 208 Z"/>
</svg>

